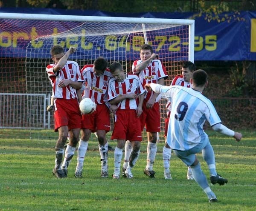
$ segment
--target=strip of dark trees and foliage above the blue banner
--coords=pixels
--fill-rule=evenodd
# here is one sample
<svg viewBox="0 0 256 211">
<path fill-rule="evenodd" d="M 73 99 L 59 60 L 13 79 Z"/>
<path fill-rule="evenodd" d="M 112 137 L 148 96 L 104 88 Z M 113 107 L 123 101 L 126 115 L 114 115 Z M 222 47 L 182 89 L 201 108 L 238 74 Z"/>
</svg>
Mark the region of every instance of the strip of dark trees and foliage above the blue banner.
<svg viewBox="0 0 256 211">
<path fill-rule="evenodd" d="M 120 13 L 139 12 L 206 12 L 209 19 L 228 11 L 256 10 L 254 0 L 3 0 L 3 5 L 33 6 L 56 9 L 101 10 Z"/>
</svg>

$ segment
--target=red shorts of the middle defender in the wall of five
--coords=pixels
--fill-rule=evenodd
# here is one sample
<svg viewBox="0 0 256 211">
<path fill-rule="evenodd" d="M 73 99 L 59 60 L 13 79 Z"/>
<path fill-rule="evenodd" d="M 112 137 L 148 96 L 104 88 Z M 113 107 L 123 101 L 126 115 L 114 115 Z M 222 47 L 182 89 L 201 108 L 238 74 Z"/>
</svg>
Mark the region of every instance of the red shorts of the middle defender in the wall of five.
<svg viewBox="0 0 256 211">
<path fill-rule="evenodd" d="M 135 109 L 117 110 L 111 139 L 142 141 L 140 120 Z"/>
</svg>

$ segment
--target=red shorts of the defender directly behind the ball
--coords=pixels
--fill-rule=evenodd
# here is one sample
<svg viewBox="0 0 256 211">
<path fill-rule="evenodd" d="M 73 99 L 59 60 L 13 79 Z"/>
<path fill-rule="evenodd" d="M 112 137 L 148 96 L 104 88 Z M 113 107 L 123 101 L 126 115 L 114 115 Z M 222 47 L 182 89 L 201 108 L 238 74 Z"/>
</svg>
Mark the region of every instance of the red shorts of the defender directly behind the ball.
<svg viewBox="0 0 256 211">
<path fill-rule="evenodd" d="M 97 130 L 110 131 L 108 107 L 105 104 L 96 104 L 96 110 L 92 114 L 83 114 L 81 128 L 89 129 L 93 133 Z"/>
</svg>

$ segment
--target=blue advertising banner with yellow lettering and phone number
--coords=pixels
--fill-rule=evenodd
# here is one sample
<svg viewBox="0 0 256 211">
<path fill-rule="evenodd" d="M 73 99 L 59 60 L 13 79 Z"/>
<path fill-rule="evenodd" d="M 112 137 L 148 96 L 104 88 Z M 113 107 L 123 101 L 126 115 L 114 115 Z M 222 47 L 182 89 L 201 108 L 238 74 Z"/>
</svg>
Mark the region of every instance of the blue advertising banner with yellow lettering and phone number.
<svg viewBox="0 0 256 211">
<path fill-rule="evenodd" d="M 90 16 L 113 16 L 127 17 L 128 14 L 103 13 L 100 11 L 67 11 L 54 9 L 0 9 L 1 12 L 17 12 L 17 13 L 43 13 L 43 14 L 69 14 L 69 15 L 90 15 Z M 218 20 L 207 20 L 205 15 L 198 17 L 193 13 L 145 13 L 131 14 L 131 17 L 149 17 L 149 18 L 175 18 L 175 19 L 195 19 L 195 60 L 256 60 L 256 11 L 241 11 L 240 13 L 225 13 Z M 109 27 L 111 26 L 111 23 Z M 80 22 L 47 22 L 42 20 L 23 20 L 19 24 L 15 20 L 0 18 L 0 57 L 38 57 L 49 58 L 49 46 L 64 43 L 64 46 L 77 46 L 81 53 L 78 57 L 87 57 L 94 59 L 93 55 L 99 54 L 97 51 L 105 51 L 105 57 L 115 57 L 117 60 L 125 57 L 134 57 L 137 55 L 136 49 L 131 49 L 116 54 L 116 48 L 122 48 L 121 42 L 132 38 L 129 37 L 113 37 L 107 35 L 97 37 L 87 37 L 83 28 L 74 32 L 73 37 L 65 37 L 65 31 L 78 29 Z M 56 38 L 51 35 L 61 34 L 63 37 Z M 165 33 L 165 31 L 159 31 Z M 47 37 L 44 37 L 47 36 Z M 127 36 L 131 36 L 127 35 Z M 169 34 L 170 37 L 175 34 Z M 39 37 L 39 38 L 38 38 Z M 40 38 L 42 37 L 42 38 Z M 46 41 L 46 38 L 48 41 Z M 187 37 L 176 37 L 179 43 L 186 43 Z M 50 41 L 49 41 L 50 40 Z M 113 42 L 111 45 L 109 42 Z M 157 40 L 151 40 L 157 42 Z M 159 42 L 159 40 L 158 40 Z M 115 45 L 116 44 L 116 45 Z M 116 47 L 115 47 L 116 46 Z M 180 45 L 182 46 L 182 45 Z M 184 45 L 184 48 L 187 46 Z M 113 50 L 113 48 L 115 48 Z M 176 49 L 176 48 L 175 48 Z M 169 51 L 166 56 L 173 54 L 181 54 L 182 48 Z M 90 50 L 90 51 L 89 51 Z M 119 52 L 122 52 L 121 50 Z M 4 54 L 4 55 L 3 55 Z M 131 54 L 131 55 L 129 55 Z M 128 55 L 128 56 L 127 56 Z"/>
</svg>

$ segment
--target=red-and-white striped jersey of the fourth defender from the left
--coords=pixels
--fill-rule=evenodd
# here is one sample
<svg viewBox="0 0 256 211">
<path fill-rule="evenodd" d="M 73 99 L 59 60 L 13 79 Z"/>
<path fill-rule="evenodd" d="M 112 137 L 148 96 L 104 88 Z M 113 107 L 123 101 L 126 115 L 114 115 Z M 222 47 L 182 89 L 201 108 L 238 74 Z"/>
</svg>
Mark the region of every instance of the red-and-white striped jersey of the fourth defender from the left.
<svg viewBox="0 0 256 211">
<path fill-rule="evenodd" d="M 142 60 L 136 60 L 132 64 L 133 74 L 137 74 L 135 67 L 142 63 Z M 143 71 L 139 73 L 139 78 L 143 87 L 145 83 L 157 83 L 160 78 L 168 77 L 166 68 L 163 66 L 160 60 L 153 60 Z M 153 91 L 146 91 L 145 100 L 149 100 L 150 97 L 154 94 Z M 161 97 L 157 97 L 156 102 L 160 100 Z"/>
</svg>

